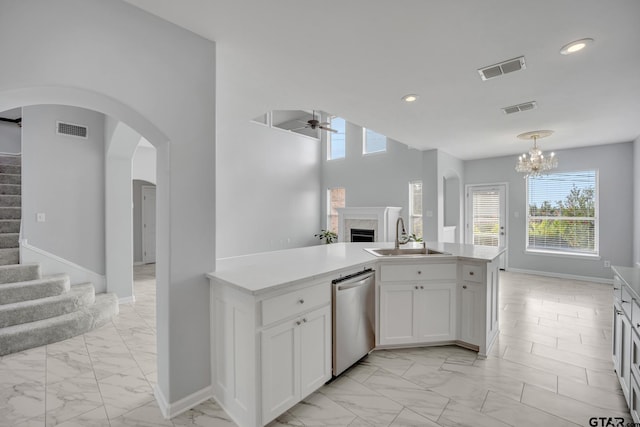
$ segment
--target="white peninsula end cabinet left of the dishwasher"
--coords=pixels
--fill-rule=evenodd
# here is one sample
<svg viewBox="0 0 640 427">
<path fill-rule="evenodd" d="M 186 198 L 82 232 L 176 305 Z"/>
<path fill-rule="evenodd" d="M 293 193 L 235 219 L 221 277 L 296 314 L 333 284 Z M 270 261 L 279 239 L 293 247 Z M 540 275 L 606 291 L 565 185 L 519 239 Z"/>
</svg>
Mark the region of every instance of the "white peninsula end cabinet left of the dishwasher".
<svg viewBox="0 0 640 427">
<path fill-rule="evenodd" d="M 240 426 L 263 426 L 331 379 L 331 278 L 251 295 L 214 282 L 214 394 Z"/>
</svg>

